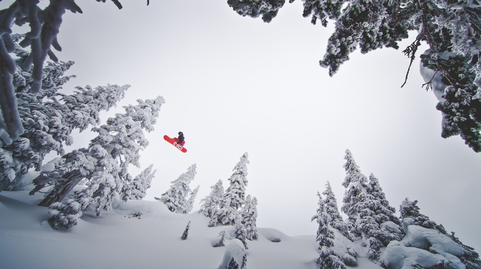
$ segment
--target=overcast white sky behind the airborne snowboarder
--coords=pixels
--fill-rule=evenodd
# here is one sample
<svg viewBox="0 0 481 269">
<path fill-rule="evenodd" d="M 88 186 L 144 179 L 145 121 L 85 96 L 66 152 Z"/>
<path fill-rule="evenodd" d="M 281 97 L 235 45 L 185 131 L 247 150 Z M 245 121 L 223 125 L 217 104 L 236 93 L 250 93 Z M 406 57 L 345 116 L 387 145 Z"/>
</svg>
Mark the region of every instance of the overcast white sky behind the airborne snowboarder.
<svg viewBox="0 0 481 269">
<path fill-rule="evenodd" d="M 258 198 L 258 226 L 315 234 L 317 191 L 329 180 L 342 205 L 344 151 L 372 172 L 399 211 L 404 198 L 481 250 L 481 155 L 459 137 L 440 137 L 436 97 L 421 89 L 402 49 L 357 51 L 333 77 L 318 61 L 332 29 L 286 4 L 269 24 L 236 14 L 225 0 L 78 1 L 60 28 L 60 60 L 74 60 L 74 86 L 131 84 L 122 104 L 162 95 L 142 168 L 157 175 L 148 200 L 197 163 L 197 202 L 249 152 L 247 194 Z M 113 112 L 122 112 L 118 106 Z M 107 114 L 104 117 L 107 119 Z M 162 139 L 183 131 L 183 154 Z M 85 135 L 77 148 L 87 146 Z M 133 173 L 135 174 L 135 173 Z M 196 204 L 196 210 L 199 204 Z"/>
</svg>

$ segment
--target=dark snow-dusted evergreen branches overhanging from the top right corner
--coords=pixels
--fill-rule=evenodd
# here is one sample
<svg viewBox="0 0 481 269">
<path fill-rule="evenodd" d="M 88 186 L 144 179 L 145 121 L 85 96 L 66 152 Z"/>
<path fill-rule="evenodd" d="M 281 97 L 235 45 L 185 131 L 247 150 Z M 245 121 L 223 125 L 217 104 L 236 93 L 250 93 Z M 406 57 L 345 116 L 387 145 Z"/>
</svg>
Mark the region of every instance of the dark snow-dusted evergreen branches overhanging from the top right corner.
<svg viewBox="0 0 481 269">
<path fill-rule="evenodd" d="M 289 2 L 293 2 L 290 0 Z M 334 75 L 359 47 L 366 54 L 374 49 L 392 47 L 417 30 L 412 45 L 403 53 L 410 67 L 422 42 L 429 45 L 421 56 L 423 67 L 440 75 L 447 85 L 443 100 L 436 108 L 443 114 L 442 137 L 460 135 L 476 152 L 481 152 L 481 5 L 478 1 L 390 1 L 390 0 L 303 0 L 304 17 L 311 23 L 335 30 L 320 60 L 321 67 Z M 240 15 L 270 22 L 284 5 L 284 0 L 228 0 Z M 407 75 L 410 71 L 407 69 Z M 432 85 L 428 80 L 427 88 Z"/>
</svg>

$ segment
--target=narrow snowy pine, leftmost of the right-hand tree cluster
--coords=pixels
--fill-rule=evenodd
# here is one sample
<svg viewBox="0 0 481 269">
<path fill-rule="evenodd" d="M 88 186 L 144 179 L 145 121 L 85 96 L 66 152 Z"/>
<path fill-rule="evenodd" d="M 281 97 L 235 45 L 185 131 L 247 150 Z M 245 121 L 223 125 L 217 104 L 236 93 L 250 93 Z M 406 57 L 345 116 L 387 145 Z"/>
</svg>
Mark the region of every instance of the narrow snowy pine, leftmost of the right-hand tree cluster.
<svg viewBox="0 0 481 269">
<path fill-rule="evenodd" d="M 316 242 L 319 244 L 318 252 L 319 258 L 317 259 L 317 267 L 320 269 L 347 269 L 346 265 L 341 261 L 334 248 L 334 232 L 329 228 L 329 215 L 326 212 L 324 200 L 319 192 L 319 207 L 317 213 L 313 215 L 312 220 L 316 220 L 319 224 L 317 229 Z M 312 221 L 311 220 L 311 221 Z"/>
</svg>

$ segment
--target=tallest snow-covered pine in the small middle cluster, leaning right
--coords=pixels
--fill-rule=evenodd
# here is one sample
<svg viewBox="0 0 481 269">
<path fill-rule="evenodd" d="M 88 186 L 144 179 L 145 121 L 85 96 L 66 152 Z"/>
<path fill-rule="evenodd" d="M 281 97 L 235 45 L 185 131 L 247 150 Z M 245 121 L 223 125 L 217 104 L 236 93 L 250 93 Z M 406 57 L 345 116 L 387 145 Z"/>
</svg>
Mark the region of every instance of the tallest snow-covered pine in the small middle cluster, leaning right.
<svg viewBox="0 0 481 269">
<path fill-rule="evenodd" d="M 219 209 L 216 210 L 215 218 L 225 225 L 234 224 L 235 215 L 245 203 L 245 187 L 247 187 L 247 164 L 248 154 L 245 152 L 240 161 L 234 167 L 234 173 L 230 176 L 230 185 L 225 190 Z M 211 218 L 209 226 L 215 226 L 215 218 Z"/>
</svg>

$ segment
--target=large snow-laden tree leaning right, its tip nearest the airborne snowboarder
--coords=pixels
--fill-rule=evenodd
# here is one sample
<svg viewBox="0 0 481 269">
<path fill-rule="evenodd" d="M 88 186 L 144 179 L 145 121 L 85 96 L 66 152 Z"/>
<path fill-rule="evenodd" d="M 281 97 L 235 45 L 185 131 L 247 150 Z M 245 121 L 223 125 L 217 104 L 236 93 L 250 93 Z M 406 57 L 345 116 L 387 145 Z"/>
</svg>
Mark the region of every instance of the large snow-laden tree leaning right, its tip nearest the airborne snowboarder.
<svg viewBox="0 0 481 269">
<path fill-rule="evenodd" d="M 143 129 L 153 130 L 164 98 L 137 102 L 136 106 L 124 106 L 125 114 L 118 113 L 107 124 L 93 128 L 98 136 L 91 140 L 89 148 L 66 154 L 63 163 L 54 169 L 65 179 L 63 185 L 68 186 L 60 186 L 65 193 L 58 193 L 59 196 L 68 194 L 69 188 L 83 178 L 89 180 L 85 189 L 75 192 L 74 198 L 52 204 L 49 222 L 56 229 L 71 229 L 87 207 L 100 215 L 112 208 L 114 198 L 122 199 L 124 185 L 131 178 L 128 165 L 139 166 L 139 151 L 148 145 Z"/>
</svg>

